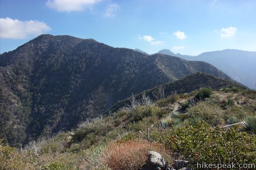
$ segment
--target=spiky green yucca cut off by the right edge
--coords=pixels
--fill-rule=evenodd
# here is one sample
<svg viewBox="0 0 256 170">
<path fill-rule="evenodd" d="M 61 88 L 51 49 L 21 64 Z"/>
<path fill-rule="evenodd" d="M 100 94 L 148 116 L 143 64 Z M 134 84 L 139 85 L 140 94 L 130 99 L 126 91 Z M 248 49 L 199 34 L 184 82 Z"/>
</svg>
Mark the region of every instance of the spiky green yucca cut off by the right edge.
<svg viewBox="0 0 256 170">
<path fill-rule="evenodd" d="M 247 116 L 242 120 L 242 130 L 250 134 L 256 134 L 256 117 Z"/>
</svg>

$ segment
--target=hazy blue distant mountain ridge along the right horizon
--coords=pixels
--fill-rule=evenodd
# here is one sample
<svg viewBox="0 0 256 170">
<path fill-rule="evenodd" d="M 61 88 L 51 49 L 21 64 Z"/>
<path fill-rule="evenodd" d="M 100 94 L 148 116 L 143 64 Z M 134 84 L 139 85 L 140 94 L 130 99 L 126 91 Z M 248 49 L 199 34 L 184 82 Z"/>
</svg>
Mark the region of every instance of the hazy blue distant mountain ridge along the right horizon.
<svg viewBox="0 0 256 170">
<path fill-rule="evenodd" d="M 170 50 L 161 50 L 158 53 L 190 61 L 205 61 L 247 87 L 256 88 L 256 52 L 227 49 L 205 52 L 198 56 L 174 54 Z"/>
</svg>

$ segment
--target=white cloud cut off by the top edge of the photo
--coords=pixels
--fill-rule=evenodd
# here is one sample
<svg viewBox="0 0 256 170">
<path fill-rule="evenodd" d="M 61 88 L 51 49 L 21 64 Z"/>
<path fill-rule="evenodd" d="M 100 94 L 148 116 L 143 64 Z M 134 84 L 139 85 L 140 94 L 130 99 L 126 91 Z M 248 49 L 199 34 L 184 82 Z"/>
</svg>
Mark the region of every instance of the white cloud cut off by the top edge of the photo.
<svg viewBox="0 0 256 170">
<path fill-rule="evenodd" d="M 48 0 L 46 6 L 60 12 L 82 11 L 101 0 Z"/>
</svg>

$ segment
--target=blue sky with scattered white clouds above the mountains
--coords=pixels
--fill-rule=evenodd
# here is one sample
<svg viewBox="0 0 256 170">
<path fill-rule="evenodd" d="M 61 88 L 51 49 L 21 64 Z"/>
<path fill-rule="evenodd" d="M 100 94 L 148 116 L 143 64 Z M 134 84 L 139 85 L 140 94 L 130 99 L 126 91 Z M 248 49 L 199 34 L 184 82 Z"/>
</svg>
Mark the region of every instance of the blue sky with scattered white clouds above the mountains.
<svg viewBox="0 0 256 170">
<path fill-rule="evenodd" d="M 42 33 L 198 55 L 256 51 L 256 0 L 1 0 L 0 53 Z"/>
</svg>

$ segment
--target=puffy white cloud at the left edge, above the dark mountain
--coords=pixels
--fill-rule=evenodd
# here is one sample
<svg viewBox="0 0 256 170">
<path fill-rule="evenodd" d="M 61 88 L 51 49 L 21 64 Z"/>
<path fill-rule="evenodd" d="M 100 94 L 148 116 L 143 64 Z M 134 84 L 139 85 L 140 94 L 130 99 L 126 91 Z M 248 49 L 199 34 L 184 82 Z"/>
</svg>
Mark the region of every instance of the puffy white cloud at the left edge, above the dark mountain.
<svg viewBox="0 0 256 170">
<path fill-rule="evenodd" d="M 25 39 L 28 35 L 41 35 L 51 28 L 37 20 L 20 21 L 11 18 L 0 18 L 0 38 Z"/>
</svg>

